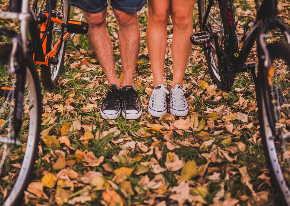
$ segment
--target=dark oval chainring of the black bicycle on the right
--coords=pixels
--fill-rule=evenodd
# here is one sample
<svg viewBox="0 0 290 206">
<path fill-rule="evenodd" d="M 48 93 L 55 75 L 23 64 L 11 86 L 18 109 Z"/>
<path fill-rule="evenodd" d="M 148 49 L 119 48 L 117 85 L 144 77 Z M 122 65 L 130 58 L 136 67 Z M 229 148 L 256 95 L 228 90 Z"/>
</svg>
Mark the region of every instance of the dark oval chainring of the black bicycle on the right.
<svg viewBox="0 0 290 206">
<path fill-rule="evenodd" d="M 219 68 L 219 70 L 219 73 L 221 74 L 221 83 L 224 90 L 229 92 L 233 87 L 236 74 L 234 73 L 233 65 L 231 64 L 230 59 L 224 50 L 221 50 L 221 68 Z"/>
</svg>

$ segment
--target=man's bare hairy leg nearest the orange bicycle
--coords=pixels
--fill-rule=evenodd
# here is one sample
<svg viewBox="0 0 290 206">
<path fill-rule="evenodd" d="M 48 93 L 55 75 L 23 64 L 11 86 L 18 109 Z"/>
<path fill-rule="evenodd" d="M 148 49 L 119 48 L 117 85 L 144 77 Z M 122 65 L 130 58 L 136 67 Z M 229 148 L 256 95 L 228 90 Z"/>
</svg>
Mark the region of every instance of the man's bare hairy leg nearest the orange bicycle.
<svg viewBox="0 0 290 206">
<path fill-rule="evenodd" d="M 104 70 L 108 84 L 116 84 L 120 88 L 121 83 L 116 75 L 113 48 L 106 25 L 107 9 L 98 14 L 84 12 L 84 15 L 89 24 L 90 44 Z"/>
</svg>

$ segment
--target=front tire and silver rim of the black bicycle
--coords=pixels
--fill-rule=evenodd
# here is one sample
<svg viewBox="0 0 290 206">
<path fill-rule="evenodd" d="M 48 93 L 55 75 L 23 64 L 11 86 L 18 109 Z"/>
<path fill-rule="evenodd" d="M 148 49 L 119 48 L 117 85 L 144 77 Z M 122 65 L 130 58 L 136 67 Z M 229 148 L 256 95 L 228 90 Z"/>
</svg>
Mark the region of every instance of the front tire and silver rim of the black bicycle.
<svg viewBox="0 0 290 206">
<path fill-rule="evenodd" d="M 271 60 L 282 59 L 290 68 L 290 45 L 286 42 L 273 42 L 267 45 Z M 272 186 L 275 188 L 279 201 L 279 205 L 290 205 L 290 190 L 289 183 L 285 180 L 282 172 L 282 167 L 279 162 L 279 154 L 276 150 L 277 134 L 273 134 L 271 124 L 273 124 L 274 112 L 273 112 L 273 99 L 270 96 L 271 88 L 268 82 L 268 76 L 266 71 L 259 70 L 258 72 L 258 84 L 256 85 L 256 95 L 258 103 L 259 124 L 260 133 L 262 137 L 263 148 L 266 156 L 266 162 L 268 164 Z M 276 128 L 276 123 L 274 125 Z M 280 154 L 281 155 L 281 154 Z M 278 161 L 277 161 L 278 160 Z M 285 164 L 285 163 L 284 163 Z"/>
</svg>

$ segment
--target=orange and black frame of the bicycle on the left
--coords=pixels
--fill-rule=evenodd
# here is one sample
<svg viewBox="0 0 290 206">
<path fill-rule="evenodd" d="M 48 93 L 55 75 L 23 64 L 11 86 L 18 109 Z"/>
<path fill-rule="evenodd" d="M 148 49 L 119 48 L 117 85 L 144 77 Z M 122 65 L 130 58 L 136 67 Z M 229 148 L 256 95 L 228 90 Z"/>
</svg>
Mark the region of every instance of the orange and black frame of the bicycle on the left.
<svg viewBox="0 0 290 206">
<path fill-rule="evenodd" d="M 14 4 L 17 4 L 18 0 L 11 0 L 11 4 L 13 4 L 12 1 L 16 2 Z M 50 58 L 56 54 L 60 43 L 62 43 L 66 38 L 68 38 L 69 33 L 66 32 L 65 34 L 63 34 L 63 38 L 59 39 L 56 42 L 56 44 L 54 45 L 53 49 L 50 52 L 46 53 L 47 37 L 45 37 L 42 43 L 42 48 L 38 45 L 41 45 L 41 38 L 43 37 L 44 35 L 43 33 L 46 30 L 48 20 L 40 24 L 40 32 L 39 32 L 38 23 L 36 21 L 34 12 L 31 11 L 31 8 L 29 7 L 29 5 L 30 5 L 29 0 L 22 0 L 22 5 L 18 4 L 18 6 L 21 6 L 21 13 L 10 12 L 10 11 L 0 12 L 0 18 L 20 20 L 21 21 L 21 25 L 20 25 L 21 40 L 24 43 L 27 42 L 27 36 L 28 36 L 27 31 L 29 30 L 31 41 L 34 46 L 35 53 L 33 54 L 32 58 L 35 64 L 44 64 L 48 66 Z M 67 5 L 65 5 L 65 8 L 67 9 Z M 45 15 L 47 15 L 47 17 L 49 16 L 48 13 L 45 13 Z M 51 22 L 56 23 L 58 25 L 63 25 L 63 23 L 67 23 L 67 22 L 62 22 L 62 20 L 56 19 L 54 17 L 51 17 Z M 23 52 L 24 53 L 27 52 L 26 44 L 23 44 Z"/>
</svg>

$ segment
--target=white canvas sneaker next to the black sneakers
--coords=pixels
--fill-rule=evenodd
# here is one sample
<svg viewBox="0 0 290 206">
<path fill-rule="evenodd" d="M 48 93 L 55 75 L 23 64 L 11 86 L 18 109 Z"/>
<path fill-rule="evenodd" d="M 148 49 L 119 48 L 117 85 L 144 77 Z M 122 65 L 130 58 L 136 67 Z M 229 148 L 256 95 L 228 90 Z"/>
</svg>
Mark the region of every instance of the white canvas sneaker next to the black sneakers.
<svg viewBox="0 0 290 206">
<path fill-rule="evenodd" d="M 149 114 L 160 117 L 167 113 L 166 94 L 169 94 L 169 91 L 164 84 L 157 84 L 154 87 L 148 103 Z"/>
</svg>

